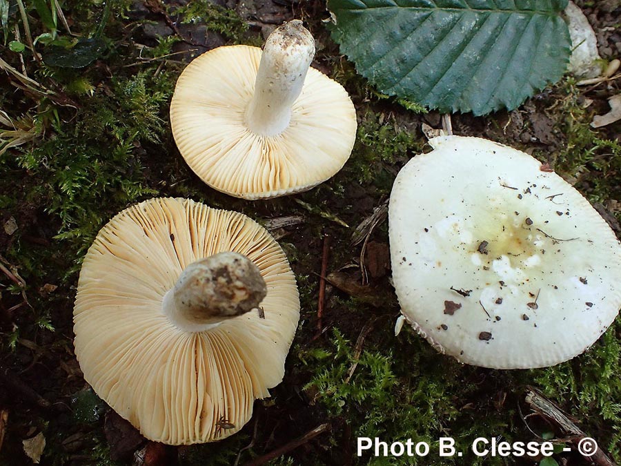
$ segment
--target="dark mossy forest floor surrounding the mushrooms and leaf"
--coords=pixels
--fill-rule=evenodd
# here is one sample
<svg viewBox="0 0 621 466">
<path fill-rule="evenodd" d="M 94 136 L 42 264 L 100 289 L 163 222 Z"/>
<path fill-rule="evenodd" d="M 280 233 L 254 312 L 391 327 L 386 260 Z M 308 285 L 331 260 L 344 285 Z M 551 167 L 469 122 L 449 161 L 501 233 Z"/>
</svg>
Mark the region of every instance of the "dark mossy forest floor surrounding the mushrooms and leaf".
<svg viewBox="0 0 621 466">
<path fill-rule="evenodd" d="M 95 38 L 83 43 L 83 55 L 97 59 L 70 68 L 63 62 L 67 57 L 52 57 L 64 66 L 59 67 L 35 60 L 28 47 L 10 50 L 6 39 L 17 30 L 27 44 L 26 30 L 17 3 L 0 0 L 8 6 L 0 45 L 0 122 L 9 117 L 18 127 L 0 137 L 20 143 L 0 153 L 0 465 L 30 464 L 23 440 L 31 445 L 28 439 L 39 434 L 46 439 L 44 465 L 130 465 L 145 447 L 144 464 L 150 465 L 260 463 L 279 449 L 282 455 L 270 464 L 533 465 L 541 458 L 355 455 L 357 436 L 425 440 L 436 449 L 438 438 L 452 436 L 464 452 L 476 437 L 543 436 L 573 445 L 558 425 L 529 416 L 529 387 L 553 400 L 621 462 L 619 319 L 582 356 L 546 369 L 464 366 L 437 353 L 412 329 L 395 337 L 400 312 L 388 279 L 385 215 L 363 236 L 364 253 L 354 241 L 356 226 L 385 206 L 408 159 L 431 150 L 422 124 L 440 128 L 441 115 L 405 108 L 359 77 L 329 36 L 325 3 L 75 0 L 62 6 L 66 25 L 59 15 L 56 26 L 34 8 L 41 3 L 47 4 L 26 2 L 24 13 L 30 35 L 43 35 L 35 48 L 48 55 L 47 62 L 53 51 L 47 39 L 70 39 L 66 26 L 75 37 Z M 578 3 L 598 35 L 602 58 L 620 57 L 618 2 Z M 233 43 L 260 46 L 270 30 L 294 17 L 317 40 L 313 66 L 343 84 L 353 99 L 358 133 L 351 159 L 306 193 L 233 199 L 202 183 L 177 151 L 168 120 L 176 79 L 199 53 Z M 620 88 L 619 79 L 577 86 L 565 77 L 517 110 L 452 115 L 453 131 L 508 144 L 548 163 L 619 234 L 621 125 L 595 130 L 589 124 L 593 115 L 607 113 L 607 99 Z M 302 315 L 285 378 L 270 398 L 255 402 L 242 431 L 218 443 L 147 443 L 97 398 L 73 353 L 72 307 L 83 255 L 113 215 L 154 196 L 190 197 L 249 215 L 270 228 L 297 277 Z M 273 227 L 286 216 L 293 218 Z M 368 272 L 365 286 L 361 263 Z M 319 303 L 322 273 L 333 275 Z M 293 440 L 317 427 L 319 434 L 293 448 Z M 558 465 L 590 464 L 575 450 L 553 459 Z"/>
</svg>

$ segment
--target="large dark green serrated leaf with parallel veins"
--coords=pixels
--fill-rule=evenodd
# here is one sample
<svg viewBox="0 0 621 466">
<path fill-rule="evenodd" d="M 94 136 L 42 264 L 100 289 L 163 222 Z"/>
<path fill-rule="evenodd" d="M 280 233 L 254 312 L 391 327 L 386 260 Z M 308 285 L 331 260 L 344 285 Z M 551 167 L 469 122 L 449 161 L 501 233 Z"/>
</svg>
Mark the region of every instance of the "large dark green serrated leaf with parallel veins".
<svg viewBox="0 0 621 466">
<path fill-rule="evenodd" d="M 329 0 L 332 34 L 382 93 L 442 112 L 513 109 L 562 77 L 567 0 Z"/>
</svg>

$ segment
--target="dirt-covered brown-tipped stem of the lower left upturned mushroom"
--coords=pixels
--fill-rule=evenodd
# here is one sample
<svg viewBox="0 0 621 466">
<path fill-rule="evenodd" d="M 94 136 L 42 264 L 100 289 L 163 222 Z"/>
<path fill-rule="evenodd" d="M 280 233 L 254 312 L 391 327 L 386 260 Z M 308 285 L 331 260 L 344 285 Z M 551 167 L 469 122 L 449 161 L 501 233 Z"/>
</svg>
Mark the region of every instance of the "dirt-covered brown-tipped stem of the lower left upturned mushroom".
<svg viewBox="0 0 621 466">
<path fill-rule="evenodd" d="M 259 307 L 267 294 L 259 268 L 244 255 L 218 253 L 188 265 L 162 308 L 179 329 L 199 332 Z"/>
</svg>

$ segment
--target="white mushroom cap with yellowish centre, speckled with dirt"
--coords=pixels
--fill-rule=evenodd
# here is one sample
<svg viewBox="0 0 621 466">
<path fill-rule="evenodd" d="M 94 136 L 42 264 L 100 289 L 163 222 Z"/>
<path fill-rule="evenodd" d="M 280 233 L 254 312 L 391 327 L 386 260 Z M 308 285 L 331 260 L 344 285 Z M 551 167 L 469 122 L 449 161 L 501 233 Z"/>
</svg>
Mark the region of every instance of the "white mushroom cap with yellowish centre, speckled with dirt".
<svg viewBox="0 0 621 466">
<path fill-rule="evenodd" d="M 391 193 L 393 282 L 433 346 L 482 367 L 545 367 L 587 349 L 621 306 L 621 246 L 536 159 L 435 137 Z"/>
</svg>

